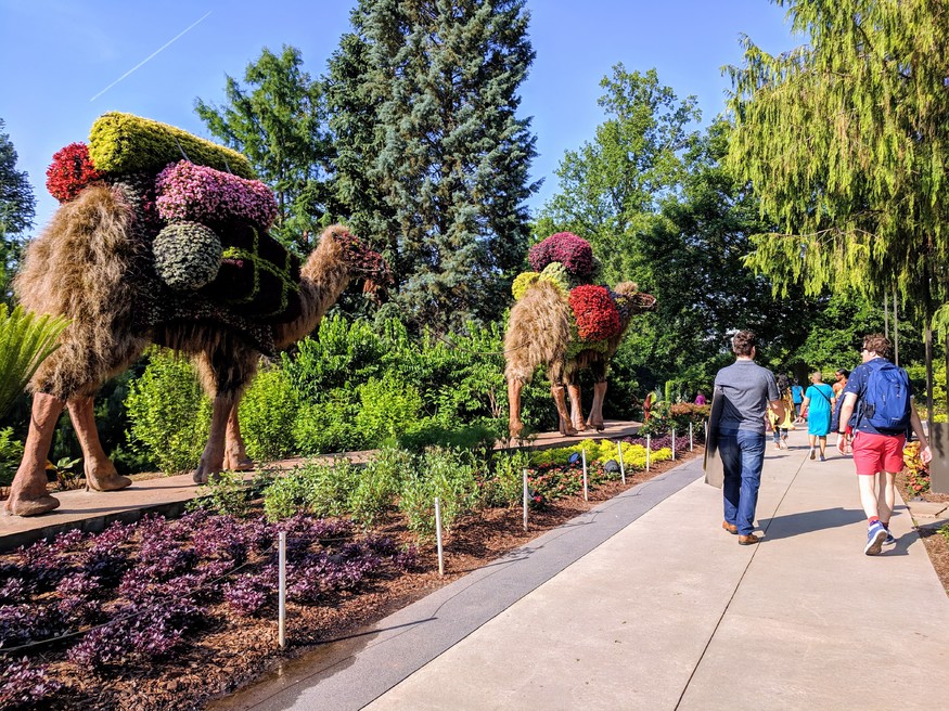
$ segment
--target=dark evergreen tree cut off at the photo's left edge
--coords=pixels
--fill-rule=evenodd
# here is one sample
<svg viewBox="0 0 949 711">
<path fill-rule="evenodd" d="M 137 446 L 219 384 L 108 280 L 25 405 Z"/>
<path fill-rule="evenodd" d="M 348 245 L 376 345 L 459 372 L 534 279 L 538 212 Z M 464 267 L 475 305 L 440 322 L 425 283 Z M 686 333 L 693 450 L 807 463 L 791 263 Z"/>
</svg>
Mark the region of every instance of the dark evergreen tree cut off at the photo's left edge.
<svg viewBox="0 0 949 711">
<path fill-rule="evenodd" d="M 0 118 L 0 301 L 10 301 L 10 281 L 20 261 L 20 236 L 33 228 L 36 198 L 26 171 L 16 169 L 16 148 Z"/>
</svg>

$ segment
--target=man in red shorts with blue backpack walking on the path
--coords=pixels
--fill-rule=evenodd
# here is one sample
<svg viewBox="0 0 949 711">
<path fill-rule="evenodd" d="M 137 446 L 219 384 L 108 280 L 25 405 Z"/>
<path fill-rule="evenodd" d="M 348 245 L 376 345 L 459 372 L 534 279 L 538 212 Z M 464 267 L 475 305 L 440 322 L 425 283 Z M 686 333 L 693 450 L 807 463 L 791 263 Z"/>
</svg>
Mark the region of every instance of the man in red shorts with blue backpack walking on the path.
<svg viewBox="0 0 949 711">
<path fill-rule="evenodd" d="M 882 334 L 863 338 L 863 362 L 850 372 L 841 405 L 837 449 L 846 447 L 847 423 L 854 431 L 854 464 L 860 503 L 867 514 L 865 555 L 879 555 L 884 544 L 896 543 L 889 517 L 896 501 L 896 475 L 902 469 L 902 448 L 912 426 L 920 439 L 920 458 L 933 458 L 920 415 L 912 406 L 907 372 L 890 361 L 893 346 Z"/>
</svg>

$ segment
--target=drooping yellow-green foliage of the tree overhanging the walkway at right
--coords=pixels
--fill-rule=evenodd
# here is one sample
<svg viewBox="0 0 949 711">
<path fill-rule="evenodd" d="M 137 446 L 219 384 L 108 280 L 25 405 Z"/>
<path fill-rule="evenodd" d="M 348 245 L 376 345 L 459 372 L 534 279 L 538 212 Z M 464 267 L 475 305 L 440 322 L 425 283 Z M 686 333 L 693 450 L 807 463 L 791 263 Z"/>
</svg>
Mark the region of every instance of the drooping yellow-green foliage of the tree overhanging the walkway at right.
<svg viewBox="0 0 949 711">
<path fill-rule="evenodd" d="M 949 5 L 777 1 L 810 44 L 773 56 L 745 39 L 730 68 L 730 165 L 777 222 L 748 263 L 809 294 L 895 286 L 928 319 L 949 256 Z"/>
</svg>

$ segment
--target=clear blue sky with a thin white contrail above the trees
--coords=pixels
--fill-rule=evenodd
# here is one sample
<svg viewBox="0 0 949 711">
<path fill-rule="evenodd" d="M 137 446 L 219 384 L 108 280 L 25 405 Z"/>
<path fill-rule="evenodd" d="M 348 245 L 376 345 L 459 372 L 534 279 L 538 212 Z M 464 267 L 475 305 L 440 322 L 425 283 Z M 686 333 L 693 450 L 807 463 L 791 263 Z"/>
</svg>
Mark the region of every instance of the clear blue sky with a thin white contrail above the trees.
<svg viewBox="0 0 949 711">
<path fill-rule="evenodd" d="M 207 137 L 195 98 L 219 103 L 225 75 L 243 79 L 264 47 L 292 44 L 311 76 L 323 74 L 355 4 L 0 0 L 0 118 L 18 169 L 29 173 L 36 228 L 56 207 L 44 186 L 53 153 L 87 141 L 100 114 L 129 112 Z M 537 59 L 522 85 L 521 115 L 533 117 L 537 135 L 533 178 L 544 179 L 530 201 L 535 210 L 556 190 L 553 171 L 564 151 L 591 140 L 602 122 L 599 82 L 617 62 L 628 70 L 655 67 L 680 98 L 697 96 L 707 122 L 724 108 L 729 80 L 720 69 L 741 62 L 741 34 L 769 52 L 800 43 L 784 10 L 768 0 L 528 0 L 527 7 Z"/>
</svg>

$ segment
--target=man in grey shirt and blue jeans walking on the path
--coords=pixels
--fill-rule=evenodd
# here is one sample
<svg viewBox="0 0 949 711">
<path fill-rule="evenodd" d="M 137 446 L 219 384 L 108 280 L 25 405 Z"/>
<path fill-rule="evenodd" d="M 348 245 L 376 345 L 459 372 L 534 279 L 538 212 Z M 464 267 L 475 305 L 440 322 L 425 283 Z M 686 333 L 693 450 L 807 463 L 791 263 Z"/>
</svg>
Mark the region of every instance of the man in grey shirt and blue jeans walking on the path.
<svg viewBox="0 0 949 711">
<path fill-rule="evenodd" d="M 715 389 L 722 398 L 718 421 L 718 452 L 724 469 L 721 527 L 738 534 L 741 545 L 752 545 L 759 541 L 754 531 L 765 465 L 765 415 L 770 406 L 781 422 L 784 404 L 774 375 L 755 363 L 755 334 L 740 331 L 731 344 L 735 362 L 715 376 Z"/>
</svg>

